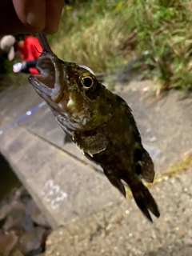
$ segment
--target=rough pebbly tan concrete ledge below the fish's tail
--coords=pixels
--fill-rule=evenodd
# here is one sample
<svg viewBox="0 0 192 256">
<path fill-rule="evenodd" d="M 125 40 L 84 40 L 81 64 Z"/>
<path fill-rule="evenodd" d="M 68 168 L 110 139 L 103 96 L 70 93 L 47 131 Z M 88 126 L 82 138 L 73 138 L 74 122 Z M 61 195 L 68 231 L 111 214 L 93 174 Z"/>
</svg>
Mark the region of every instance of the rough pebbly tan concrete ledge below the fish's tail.
<svg viewBox="0 0 192 256">
<path fill-rule="evenodd" d="M 55 230 L 46 256 L 191 256 L 192 169 L 150 189 L 161 216 L 151 224 L 134 199 Z"/>
</svg>

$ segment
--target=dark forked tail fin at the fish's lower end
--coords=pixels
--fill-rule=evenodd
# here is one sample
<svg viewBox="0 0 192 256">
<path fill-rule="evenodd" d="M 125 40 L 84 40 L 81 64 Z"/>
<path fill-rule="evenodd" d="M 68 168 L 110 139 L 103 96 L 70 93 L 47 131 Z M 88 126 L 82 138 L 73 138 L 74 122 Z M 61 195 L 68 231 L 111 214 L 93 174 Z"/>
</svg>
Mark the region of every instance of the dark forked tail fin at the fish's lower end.
<svg viewBox="0 0 192 256">
<path fill-rule="evenodd" d="M 134 201 L 137 203 L 138 208 L 142 211 L 142 214 L 144 214 L 146 218 L 150 220 L 150 222 L 153 222 L 150 212 L 157 218 L 160 216 L 157 203 L 154 201 L 150 191 L 142 184 L 141 181 L 138 181 L 137 184 L 134 184 L 134 186 L 130 186 L 130 190 L 134 196 Z"/>
</svg>

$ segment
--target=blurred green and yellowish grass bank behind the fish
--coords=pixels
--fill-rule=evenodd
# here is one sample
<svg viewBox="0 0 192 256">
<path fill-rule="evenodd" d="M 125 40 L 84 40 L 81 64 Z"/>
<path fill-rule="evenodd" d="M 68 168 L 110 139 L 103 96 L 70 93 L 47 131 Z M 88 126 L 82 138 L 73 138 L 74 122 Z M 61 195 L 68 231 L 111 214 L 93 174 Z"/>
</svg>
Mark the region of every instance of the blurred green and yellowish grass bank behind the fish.
<svg viewBox="0 0 192 256">
<path fill-rule="evenodd" d="M 76 1 L 48 39 L 55 54 L 110 72 L 147 50 L 145 74 L 161 90 L 192 88 L 190 0 Z"/>
</svg>

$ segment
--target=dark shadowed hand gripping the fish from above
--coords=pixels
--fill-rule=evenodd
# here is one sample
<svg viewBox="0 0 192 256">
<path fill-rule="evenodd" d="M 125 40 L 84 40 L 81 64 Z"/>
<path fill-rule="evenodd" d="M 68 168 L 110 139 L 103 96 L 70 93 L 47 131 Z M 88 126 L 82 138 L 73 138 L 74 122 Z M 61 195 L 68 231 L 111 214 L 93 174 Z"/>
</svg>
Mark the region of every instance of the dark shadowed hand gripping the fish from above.
<svg viewBox="0 0 192 256">
<path fill-rule="evenodd" d="M 58 30 L 63 0 L 0 0 L 0 34 Z"/>
</svg>

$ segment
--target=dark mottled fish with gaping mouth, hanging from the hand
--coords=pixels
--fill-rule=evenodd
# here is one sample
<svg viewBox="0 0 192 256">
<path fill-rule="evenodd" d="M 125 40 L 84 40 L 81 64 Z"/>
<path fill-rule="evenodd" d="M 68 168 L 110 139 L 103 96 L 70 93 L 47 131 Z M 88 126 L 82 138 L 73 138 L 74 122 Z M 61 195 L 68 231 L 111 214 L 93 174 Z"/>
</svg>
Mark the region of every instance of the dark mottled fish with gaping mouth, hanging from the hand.
<svg viewBox="0 0 192 256">
<path fill-rule="evenodd" d="M 133 194 L 142 214 L 153 222 L 160 212 L 143 184 L 154 182 L 154 163 L 142 146 L 142 138 L 132 110 L 117 94 L 98 82 L 89 67 L 59 59 L 38 34 L 42 54 L 39 74 L 31 74 L 30 84 L 42 97 L 62 130 L 82 154 L 102 166 L 109 182 L 126 198 L 125 186 Z"/>
</svg>

